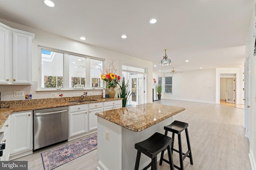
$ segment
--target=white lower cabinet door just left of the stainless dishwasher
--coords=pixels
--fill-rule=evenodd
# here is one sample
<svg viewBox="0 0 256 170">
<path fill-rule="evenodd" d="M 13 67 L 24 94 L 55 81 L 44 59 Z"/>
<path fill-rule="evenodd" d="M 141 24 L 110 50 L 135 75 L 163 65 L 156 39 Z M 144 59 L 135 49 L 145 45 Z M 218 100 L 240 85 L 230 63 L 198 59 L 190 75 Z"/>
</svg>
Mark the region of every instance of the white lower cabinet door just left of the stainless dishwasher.
<svg viewBox="0 0 256 170">
<path fill-rule="evenodd" d="M 32 150 L 32 111 L 11 115 L 11 154 Z"/>
</svg>

